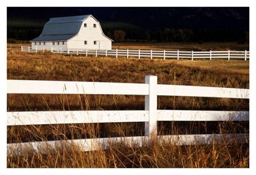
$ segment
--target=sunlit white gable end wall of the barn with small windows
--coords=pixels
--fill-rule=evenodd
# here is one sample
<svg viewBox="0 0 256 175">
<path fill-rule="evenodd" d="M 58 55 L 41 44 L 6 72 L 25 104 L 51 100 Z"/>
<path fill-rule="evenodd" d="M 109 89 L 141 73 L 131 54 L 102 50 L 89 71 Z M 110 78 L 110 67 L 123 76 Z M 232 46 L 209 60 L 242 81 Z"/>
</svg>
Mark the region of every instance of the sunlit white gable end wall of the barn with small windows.
<svg viewBox="0 0 256 175">
<path fill-rule="evenodd" d="M 87 27 L 84 27 L 85 23 Z M 94 24 L 96 24 L 96 28 L 94 28 Z M 85 44 L 85 40 L 87 44 Z M 96 44 L 94 44 L 94 41 L 96 41 Z M 78 35 L 67 41 L 67 47 L 110 50 L 112 42 L 102 35 L 99 23 L 93 17 L 89 17 L 82 23 Z"/>
</svg>

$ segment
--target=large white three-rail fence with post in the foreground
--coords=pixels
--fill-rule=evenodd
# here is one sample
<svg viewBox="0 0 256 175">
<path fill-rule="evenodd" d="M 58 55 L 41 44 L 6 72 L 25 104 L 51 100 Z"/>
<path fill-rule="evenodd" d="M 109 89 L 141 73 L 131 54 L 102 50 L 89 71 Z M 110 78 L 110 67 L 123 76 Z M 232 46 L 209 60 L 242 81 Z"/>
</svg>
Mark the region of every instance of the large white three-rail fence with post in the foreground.
<svg viewBox="0 0 256 175">
<path fill-rule="evenodd" d="M 145 122 L 145 136 L 41 141 L 7 144 L 7 152 L 22 154 L 21 150 L 31 147 L 44 152 L 66 143 L 81 146 L 85 151 L 106 149 L 109 143 L 125 141 L 126 144 L 146 144 L 151 137 L 159 141 L 169 140 L 178 145 L 209 144 L 234 135 L 174 135 L 157 136 L 157 121 L 249 121 L 249 111 L 186 111 L 158 110 L 157 96 L 198 96 L 249 99 L 249 89 L 194 87 L 157 84 L 157 76 L 146 76 L 145 84 L 101 83 L 101 82 L 55 82 L 40 80 L 7 80 L 7 93 L 41 94 L 103 94 L 103 95 L 145 95 L 145 110 L 142 111 L 31 111 L 7 112 L 7 126 L 72 123 L 117 123 Z M 246 139 L 247 134 L 237 134 Z M 244 140 L 243 140 L 244 141 Z"/>
</svg>

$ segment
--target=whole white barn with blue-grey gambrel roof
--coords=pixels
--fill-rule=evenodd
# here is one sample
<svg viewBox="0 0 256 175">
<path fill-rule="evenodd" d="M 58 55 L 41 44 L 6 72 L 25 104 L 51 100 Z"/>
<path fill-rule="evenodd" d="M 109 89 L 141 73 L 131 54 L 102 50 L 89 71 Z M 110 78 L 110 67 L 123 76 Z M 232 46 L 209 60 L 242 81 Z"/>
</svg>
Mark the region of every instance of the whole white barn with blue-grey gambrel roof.
<svg viewBox="0 0 256 175">
<path fill-rule="evenodd" d="M 51 47 L 111 50 L 113 40 L 107 37 L 93 15 L 50 18 L 40 36 L 30 41 L 32 49 Z"/>
</svg>

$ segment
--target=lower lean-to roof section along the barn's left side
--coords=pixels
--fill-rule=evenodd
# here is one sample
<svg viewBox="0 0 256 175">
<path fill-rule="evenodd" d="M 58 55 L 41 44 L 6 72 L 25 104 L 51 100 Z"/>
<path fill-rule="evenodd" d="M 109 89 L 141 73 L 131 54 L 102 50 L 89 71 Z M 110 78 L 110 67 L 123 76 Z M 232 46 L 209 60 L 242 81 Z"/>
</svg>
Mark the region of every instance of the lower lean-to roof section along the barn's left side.
<svg viewBox="0 0 256 175">
<path fill-rule="evenodd" d="M 35 39 L 32 39 L 31 42 L 46 42 L 46 41 L 65 41 L 73 38 L 75 34 L 71 35 L 40 35 Z"/>
</svg>

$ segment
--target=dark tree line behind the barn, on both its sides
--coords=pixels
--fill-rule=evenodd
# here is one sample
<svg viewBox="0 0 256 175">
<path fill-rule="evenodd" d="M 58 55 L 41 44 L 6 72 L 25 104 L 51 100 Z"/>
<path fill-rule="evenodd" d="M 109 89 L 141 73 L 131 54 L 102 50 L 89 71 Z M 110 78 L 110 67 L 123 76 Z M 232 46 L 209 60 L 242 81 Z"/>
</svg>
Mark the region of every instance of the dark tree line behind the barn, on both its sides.
<svg viewBox="0 0 256 175">
<path fill-rule="evenodd" d="M 7 27 L 7 38 L 31 40 L 39 36 L 42 27 Z M 142 30 L 104 29 L 103 32 L 115 42 L 238 42 L 249 43 L 249 32 L 225 29 L 163 29 Z"/>
</svg>

